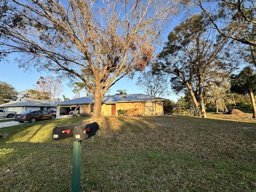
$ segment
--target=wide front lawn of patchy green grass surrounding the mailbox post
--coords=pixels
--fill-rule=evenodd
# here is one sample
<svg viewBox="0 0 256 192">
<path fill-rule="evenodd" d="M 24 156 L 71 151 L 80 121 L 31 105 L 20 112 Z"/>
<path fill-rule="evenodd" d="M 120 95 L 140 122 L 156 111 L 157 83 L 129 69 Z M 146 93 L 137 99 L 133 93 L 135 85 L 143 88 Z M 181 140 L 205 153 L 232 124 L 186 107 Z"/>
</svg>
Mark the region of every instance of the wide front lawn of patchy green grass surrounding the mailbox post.
<svg viewBox="0 0 256 192">
<path fill-rule="evenodd" d="M 66 118 L 0 128 L 0 192 L 68 192 Z M 80 191 L 256 191 L 256 124 L 190 116 L 116 116 L 82 142 Z"/>
</svg>

